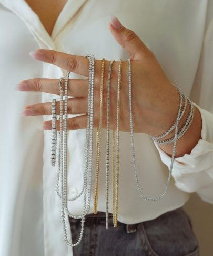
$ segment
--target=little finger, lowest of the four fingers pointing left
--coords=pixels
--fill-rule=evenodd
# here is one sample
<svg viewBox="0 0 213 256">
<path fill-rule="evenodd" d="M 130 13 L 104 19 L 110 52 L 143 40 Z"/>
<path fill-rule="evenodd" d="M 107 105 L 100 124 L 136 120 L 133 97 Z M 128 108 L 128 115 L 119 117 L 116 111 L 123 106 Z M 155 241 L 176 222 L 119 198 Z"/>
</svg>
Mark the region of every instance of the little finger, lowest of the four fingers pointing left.
<svg viewBox="0 0 213 256">
<path fill-rule="evenodd" d="M 67 130 L 78 130 L 87 127 L 87 115 L 76 116 L 67 119 Z M 42 126 L 43 130 L 52 130 L 52 121 L 45 121 Z M 56 130 L 60 130 L 60 121 L 56 121 Z"/>
</svg>

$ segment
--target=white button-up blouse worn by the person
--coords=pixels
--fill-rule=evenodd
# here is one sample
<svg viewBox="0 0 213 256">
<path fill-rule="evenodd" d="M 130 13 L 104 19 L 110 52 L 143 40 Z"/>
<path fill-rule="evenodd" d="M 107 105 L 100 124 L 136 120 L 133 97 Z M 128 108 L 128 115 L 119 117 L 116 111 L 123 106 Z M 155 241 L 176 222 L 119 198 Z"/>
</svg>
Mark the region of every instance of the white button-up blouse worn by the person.
<svg viewBox="0 0 213 256">
<path fill-rule="evenodd" d="M 96 59 L 105 56 L 108 60 L 126 60 L 126 52 L 108 29 L 110 14 L 140 36 L 169 80 L 199 106 L 202 117 L 202 139 L 190 155 L 175 159 L 168 192 L 156 203 L 146 202 L 138 194 L 130 136 L 121 132 L 118 220 L 137 223 L 154 219 L 184 205 L 190 192 L 213 203 L 212 0 L 68 0 L 51 36 L 24 0 L 0 0 L 0 255 L 72 255 L 63 238 L 60 200 L 55 193 L 56 169 L 50 165 L 51 135 L 37 128 L 50 117 L 21 115 L 26 105 L 52 101 L 55 96 L 17 92 L 14 87 L 24 79 L 58 79 L 66 74 L 63 69 L 29 56 L 29 52 L 39 48 L 75 55 L 93 53 Z M 80 78 L 75 74 L 72 77 Z M 105 138 L 103 129 L 99 211 L 105 211 Z M 146 134 L 136 134 L 135 141 L 143 191 L 148 196 L 159 195 L 171 158 Z M 85 129 L 70 131 L 69 197 L 75 197 L 83 184 L 84 148 Z M 89 213 L 93 212 L 93 198 L 94 194 Z M 69 203 L 69 209 L 77 214 L 82 212 L 82 205 L 80 197 Z M 109 205 L 111 212 L 111 199 Z"/>
</svg>

